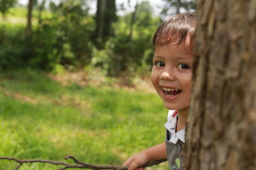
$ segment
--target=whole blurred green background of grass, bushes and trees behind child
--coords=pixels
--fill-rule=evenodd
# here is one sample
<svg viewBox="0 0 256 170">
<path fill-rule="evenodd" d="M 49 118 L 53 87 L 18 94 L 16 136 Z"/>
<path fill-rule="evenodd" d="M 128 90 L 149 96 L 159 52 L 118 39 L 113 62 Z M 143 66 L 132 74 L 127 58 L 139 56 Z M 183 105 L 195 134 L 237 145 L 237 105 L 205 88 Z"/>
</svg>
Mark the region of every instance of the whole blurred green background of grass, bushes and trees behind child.
<svg viewBox="0 0 256 170">
<path fill-rule="evenodd" d="M 92 1 L 0 0 L 1 156 L 120 165 L 163 141 L 166 110 L 148 85 L 152 35 L 195 1 L 163 0 L 159 16 L 148 1 L 127 12 L 98 0 L 90 13 Z"/>
</svg>

